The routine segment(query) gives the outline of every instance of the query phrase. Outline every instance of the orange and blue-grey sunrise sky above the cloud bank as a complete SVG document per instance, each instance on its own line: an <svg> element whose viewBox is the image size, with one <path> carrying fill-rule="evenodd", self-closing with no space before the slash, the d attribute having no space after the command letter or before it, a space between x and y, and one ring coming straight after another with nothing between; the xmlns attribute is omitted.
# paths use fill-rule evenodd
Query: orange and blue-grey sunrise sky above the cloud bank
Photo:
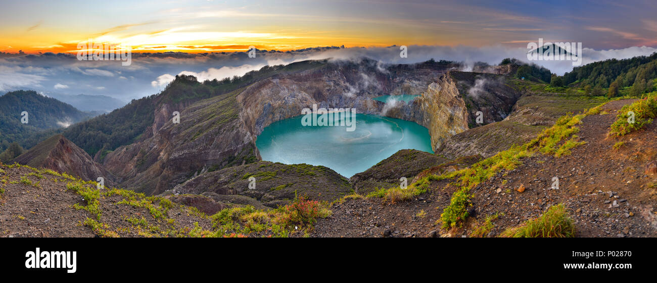
<svg viewBox="0 0 657 283"><path fill-rule="evenodd" d="M657 46L655 1L3 1L0 51L77 52L79 41L133 52L317 46ZM427 1L428 2L428 1Z"/></svg>

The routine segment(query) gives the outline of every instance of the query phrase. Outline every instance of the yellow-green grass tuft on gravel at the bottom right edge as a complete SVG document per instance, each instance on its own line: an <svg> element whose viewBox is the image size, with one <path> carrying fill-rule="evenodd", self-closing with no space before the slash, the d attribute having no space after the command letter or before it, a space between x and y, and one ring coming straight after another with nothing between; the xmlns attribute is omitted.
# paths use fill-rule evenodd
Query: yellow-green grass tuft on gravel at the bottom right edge
<svg viewBox="0 0 657 283"><path fill-rule="evenodd" d="M568 238L575 236L575 225L563 204L551 206L541 217L502 232L511 238Z"/></svg>

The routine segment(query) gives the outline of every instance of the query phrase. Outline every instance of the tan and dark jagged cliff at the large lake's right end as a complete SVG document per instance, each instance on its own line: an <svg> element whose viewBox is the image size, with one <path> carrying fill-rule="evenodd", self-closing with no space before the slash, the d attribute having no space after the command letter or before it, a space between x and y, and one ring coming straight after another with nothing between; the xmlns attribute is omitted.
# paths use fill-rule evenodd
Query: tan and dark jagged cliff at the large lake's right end
<svg viewBox="0 0 657 283"><path fill-rule="evenodd" d="M445 140L473 127L504 120L522 96L508 76L449 71L409 104L386 107L384 116L415 121L429 129L434 151ZM481 112L482 123L477 123Z"/></svg>

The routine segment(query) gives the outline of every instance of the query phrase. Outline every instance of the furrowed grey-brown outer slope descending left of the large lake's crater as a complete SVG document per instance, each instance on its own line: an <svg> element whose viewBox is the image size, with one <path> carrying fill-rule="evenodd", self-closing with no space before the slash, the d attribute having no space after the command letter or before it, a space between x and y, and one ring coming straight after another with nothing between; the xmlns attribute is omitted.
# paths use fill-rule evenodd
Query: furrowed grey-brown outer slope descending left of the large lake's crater
<svg viewBox="0 0 657 283"><path fill-rule="evenodd" d="M201 100L180 112L180 123L164 122L152 137L107 154L103 165L121 185L159 194L195 173L254 162L252 137L238 118L237 93Z"/></svg>

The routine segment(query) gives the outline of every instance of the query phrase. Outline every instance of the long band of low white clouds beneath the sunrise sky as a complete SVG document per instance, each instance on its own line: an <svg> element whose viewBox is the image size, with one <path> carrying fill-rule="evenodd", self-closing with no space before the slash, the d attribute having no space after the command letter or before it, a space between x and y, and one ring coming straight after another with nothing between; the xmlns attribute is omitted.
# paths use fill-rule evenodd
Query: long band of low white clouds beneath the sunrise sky
<svg viewBox="0 0 657 283"><path fill-rule="evenodd" d="M46 95L107 95L123 101L158 93L177 74L192 75L199 81L243 76L266 65L290 64L302 60L359 60L362 57L385 64L411 64L429 59L453 60L472 66L474 62L499 64L503 58L528 62L526 48L504 45L409 45L408 58L392 47L321 47L298 51L258 51L256 58L238 53L134 53L131 66L118 61L79 61L74 54L24 55L0 58L0 91L34 89ZM625 49L583 49L583 64L608 58L631 58L657 52L653 47ZM571 61L534 61L556 74L572 70ZM367 81L367 80L366 80Z"/></svg>

